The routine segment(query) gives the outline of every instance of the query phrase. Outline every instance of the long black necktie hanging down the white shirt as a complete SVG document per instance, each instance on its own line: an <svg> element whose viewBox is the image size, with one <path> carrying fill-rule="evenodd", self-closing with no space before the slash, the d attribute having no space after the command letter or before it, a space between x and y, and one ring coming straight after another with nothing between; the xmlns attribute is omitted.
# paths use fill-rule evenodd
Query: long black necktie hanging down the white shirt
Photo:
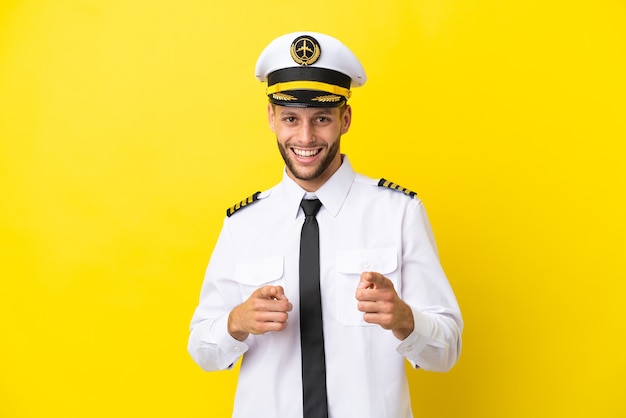
<svg viewBox="0 0 626 418"><path fill-rule="evenodd" d="M300 237L300 346L304 418L328 417L326 362L320 296L319 227L315 215L322 202L300 203L306 218Z"/></svg>

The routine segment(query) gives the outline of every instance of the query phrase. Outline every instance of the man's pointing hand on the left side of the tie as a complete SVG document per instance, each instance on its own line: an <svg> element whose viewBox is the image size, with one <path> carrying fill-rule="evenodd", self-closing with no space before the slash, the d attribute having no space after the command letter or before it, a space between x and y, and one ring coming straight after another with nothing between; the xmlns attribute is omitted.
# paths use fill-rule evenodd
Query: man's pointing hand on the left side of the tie
<svg viewBox="0 0 626 418"><path fill-rule="evenodd" d="M230 312L228 332L234 339L243 341L249 334L282 331L287 327L287 312L292 308L282 286L263 286Z"/></svg>

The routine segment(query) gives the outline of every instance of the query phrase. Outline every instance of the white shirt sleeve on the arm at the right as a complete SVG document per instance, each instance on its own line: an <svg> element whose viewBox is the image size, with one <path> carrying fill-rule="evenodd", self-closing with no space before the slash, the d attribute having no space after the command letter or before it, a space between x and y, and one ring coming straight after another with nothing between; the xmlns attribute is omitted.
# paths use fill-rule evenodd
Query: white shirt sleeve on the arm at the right
<svg viewBox="0 0 626 418"><path fill-rule="evenodd" d="M461 354L463 319L421 201L413 200L405 215L401 297L411 306L414 329L397 351L415 368L447 371Z"/></svg>

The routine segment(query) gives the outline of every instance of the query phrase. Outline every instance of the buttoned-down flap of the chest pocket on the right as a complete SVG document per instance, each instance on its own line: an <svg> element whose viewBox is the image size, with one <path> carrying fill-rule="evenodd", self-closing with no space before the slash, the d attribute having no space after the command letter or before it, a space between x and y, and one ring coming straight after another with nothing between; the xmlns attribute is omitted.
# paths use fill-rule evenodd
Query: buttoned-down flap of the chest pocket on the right
<svg viewBox="0 0 626 418"><path fill-rule="evenodd" d="M386 274L397 268L398 257L395 248L348 250L337 254L339 273L360 274L364 271L375 271Z"/></svg>

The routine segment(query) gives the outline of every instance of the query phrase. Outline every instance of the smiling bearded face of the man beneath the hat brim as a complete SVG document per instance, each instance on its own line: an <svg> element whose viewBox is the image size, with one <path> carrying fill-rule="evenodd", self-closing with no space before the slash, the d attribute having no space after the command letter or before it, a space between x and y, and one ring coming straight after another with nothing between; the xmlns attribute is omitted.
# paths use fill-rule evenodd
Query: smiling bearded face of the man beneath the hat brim
<svg viewBox="0 0 626 418"><path fill-rule="evenodd" d="M350 128L350 106L341 109L270 104L268 119L287 174L303 189L317 190L339 169L339 143Z"/></svg>

